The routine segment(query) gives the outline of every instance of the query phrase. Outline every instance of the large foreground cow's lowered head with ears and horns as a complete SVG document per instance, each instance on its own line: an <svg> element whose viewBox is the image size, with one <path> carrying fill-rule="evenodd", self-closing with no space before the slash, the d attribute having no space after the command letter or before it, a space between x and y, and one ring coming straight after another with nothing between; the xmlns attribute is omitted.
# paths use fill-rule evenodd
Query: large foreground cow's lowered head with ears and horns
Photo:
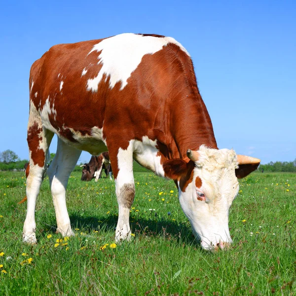
<svg viewBox="0 0 296 296"><path fill-rule="evenodd" d="M228 246L228 213L238 194L237 178L257 169L258 158L236 155L234 150L201 146L187 151L189 161L172 159L164 163L167 177L178 182L181 207L192 231L204 249Z"/></svg>

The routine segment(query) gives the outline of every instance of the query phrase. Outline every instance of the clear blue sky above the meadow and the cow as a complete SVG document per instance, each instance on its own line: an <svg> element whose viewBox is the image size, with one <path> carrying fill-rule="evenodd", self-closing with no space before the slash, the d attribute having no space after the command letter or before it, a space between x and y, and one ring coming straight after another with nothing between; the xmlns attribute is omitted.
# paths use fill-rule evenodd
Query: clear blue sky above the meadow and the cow
<svg viewBox="0 0 296 296"><path fill-rule="evenodd" d="M132 32L189 51L219 148L262 163L296 158L295 0L4 1L0 28L0 151L28 158L35 60L54 44Z"/></svg>

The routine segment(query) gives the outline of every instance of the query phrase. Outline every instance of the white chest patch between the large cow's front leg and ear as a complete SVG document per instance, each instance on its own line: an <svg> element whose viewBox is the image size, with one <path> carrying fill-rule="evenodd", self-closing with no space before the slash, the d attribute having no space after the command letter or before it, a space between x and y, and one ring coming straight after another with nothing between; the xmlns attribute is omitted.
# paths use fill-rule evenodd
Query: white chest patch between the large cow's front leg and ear
<svg viewBox="0 0 296 296"><path fill-rule="evenodd" d="M160 163L161 157L157 155L156 140L152 141L144 136L141 141L134 142L134 157L144 167L153 171L157 176L164 177L164 170Z"/></svg>

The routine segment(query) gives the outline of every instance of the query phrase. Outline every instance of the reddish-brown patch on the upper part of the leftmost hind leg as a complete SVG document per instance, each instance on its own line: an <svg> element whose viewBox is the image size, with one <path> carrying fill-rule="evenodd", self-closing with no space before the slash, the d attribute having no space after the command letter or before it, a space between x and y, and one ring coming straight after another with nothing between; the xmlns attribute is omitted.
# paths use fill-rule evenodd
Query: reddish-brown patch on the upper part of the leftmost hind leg
<svg viewBox="0 0 296 296"><path fill-rule="evenodd" d="M40 134L42 134L42 131L42 127L39 127L38 123L35 122L28 128L27 136L31 159L34 165L38 165L39 167L43 167L45 163L45 153L42 149L39 149L39 141L42 140Z"/></svg>

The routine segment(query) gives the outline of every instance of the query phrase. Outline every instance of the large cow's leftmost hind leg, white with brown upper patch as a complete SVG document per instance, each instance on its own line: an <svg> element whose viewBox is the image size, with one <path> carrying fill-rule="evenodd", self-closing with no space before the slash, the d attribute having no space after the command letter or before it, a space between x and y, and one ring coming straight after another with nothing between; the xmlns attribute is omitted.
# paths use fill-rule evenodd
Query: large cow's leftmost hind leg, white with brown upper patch
<svg viewBox="0 0 296 296"><path fill-rule="evenodd" d="M46 154L53 133L42 127L41 118L34 106L31 106L28 123L28 146L30 151L30 166L26 193L28 198L27 215L23 228L23 241L37 243L35 208L40 185L46 172Z"/></svg>

